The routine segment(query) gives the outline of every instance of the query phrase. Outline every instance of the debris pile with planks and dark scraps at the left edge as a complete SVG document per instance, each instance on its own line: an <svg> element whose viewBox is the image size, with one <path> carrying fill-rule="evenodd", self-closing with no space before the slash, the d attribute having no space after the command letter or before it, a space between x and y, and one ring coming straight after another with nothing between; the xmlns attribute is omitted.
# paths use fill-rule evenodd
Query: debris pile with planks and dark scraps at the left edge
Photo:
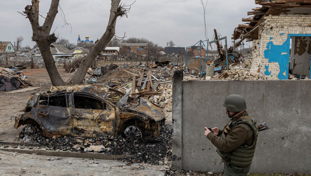
<svg viewBox="0 0 311 176"><path fill-rule="evenodd" d="M26 69L23 65L18 65L16 67L0 67L0 91L11 91L18 88L26 88L28 86L33 86L28 81L26 81L22 69Z"/></svg>

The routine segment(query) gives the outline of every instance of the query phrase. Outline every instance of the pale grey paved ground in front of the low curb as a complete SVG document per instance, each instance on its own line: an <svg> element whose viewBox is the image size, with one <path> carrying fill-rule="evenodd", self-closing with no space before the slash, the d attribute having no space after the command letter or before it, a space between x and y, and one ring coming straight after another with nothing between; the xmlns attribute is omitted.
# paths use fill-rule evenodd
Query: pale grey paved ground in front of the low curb
<svg viewBox="0 0 311 176"><path fill-rule="evenodd" d="M157 166L132 164L99 159L81 159L70 157L39 156L20 154L8 151L0 152L0 173L6 176L125 176L150 175L164 176L165 172L157 171ZM49 158L50 160L47 160ZM52 159L53 158L53 159ZM160 166L159 166L160 167Z"/></svg>

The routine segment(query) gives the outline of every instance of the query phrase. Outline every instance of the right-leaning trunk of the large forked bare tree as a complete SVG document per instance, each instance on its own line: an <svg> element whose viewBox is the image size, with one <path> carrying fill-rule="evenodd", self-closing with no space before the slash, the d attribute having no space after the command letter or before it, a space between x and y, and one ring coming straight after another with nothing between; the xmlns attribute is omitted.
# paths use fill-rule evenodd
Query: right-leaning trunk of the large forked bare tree
<svg viewBox="0 0 311 176"><path fill-rule="evenodd" d="M95 58L100 54L102 49L107 45L107 43L111 40L111 38L115 34L115 25L118 16L123 15L122 9L119 7L120 0L112 0L111 8L110 8L110 17L107 25L107 29L103 36L95 43L92 47L91 51L84 57L82 60L77 73L72 77L69 81L69 84L79 84L82 83L84 76L95 60Z"/></svg>

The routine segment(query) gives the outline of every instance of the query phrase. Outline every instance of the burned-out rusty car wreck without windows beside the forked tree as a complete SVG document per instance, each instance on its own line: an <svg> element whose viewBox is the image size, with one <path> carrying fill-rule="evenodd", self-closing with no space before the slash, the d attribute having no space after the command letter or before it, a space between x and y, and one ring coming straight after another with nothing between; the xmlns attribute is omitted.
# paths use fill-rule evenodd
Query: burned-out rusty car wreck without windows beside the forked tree
<svg viewBox="0 0 311 176"><path fill-rule="evenodd" d="M46 137L158 136L162 108L128 94L95 84L52 86L47 93L31 95L14 128L27 125L31 134L40 128Z"/></svg>

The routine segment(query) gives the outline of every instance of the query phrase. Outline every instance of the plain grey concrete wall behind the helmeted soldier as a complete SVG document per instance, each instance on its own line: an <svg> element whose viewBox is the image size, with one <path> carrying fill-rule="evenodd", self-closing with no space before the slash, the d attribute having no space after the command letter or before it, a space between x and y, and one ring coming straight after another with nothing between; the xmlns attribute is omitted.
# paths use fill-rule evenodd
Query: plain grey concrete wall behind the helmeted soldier
<svg viewBox="0 0 311 176"><path fill-rule="evenodd" d="M173 167L223 171L203 128L223 128L224 99L240 94L250 117L270 127L259 132L250 172L311 174L310 87L310 80L173 82Z"/></svg>

